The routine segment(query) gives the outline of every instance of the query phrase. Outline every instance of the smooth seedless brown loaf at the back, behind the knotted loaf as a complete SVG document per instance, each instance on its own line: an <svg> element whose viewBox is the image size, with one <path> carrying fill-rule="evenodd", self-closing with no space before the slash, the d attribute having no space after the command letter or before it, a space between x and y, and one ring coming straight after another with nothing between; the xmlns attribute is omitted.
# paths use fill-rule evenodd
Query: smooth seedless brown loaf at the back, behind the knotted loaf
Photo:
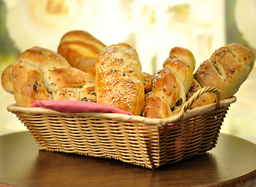
<svg viewBox="0 0 256 187"><path fill-rule="evenodd" d="M72 30L64 34L59 42L58 53L74 68L95 76L96 58L105 44L83 30Z"/></svg>

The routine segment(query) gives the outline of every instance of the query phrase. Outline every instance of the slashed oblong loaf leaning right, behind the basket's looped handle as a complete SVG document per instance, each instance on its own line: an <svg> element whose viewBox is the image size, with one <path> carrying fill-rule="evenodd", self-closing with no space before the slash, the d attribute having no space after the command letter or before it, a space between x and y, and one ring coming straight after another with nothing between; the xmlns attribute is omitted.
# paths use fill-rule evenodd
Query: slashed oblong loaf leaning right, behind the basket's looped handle
<svg viewBox="0 0 256 187"><path fill-rule="evenodd" d="M232 97L247 79L254 66L254 53L242 44L227 44L218 48L194 74L194 83L187 99L204 86L220 90L220 99ZM191 108L215 102L213 94L202 95Z"/></svg>

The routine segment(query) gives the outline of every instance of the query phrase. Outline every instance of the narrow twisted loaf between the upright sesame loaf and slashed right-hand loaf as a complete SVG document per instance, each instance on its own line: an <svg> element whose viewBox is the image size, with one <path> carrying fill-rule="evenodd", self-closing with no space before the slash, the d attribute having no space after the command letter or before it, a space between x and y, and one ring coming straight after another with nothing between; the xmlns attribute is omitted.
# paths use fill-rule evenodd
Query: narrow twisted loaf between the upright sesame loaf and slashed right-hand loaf
<svg viewBox="0 0 256 187"><path fill-rule="evenodd" d="M186 93L193 83L195 58L186 48L172 48L164 69L152 78L152 92L146 95L142 115L148 118L167 118L180 111Z"/></svg>

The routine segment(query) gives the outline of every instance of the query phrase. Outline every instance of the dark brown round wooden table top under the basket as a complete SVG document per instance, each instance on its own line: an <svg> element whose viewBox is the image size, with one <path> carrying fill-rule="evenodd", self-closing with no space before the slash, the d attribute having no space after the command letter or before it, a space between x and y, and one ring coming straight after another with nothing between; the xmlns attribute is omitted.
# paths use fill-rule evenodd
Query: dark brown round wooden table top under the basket
<svg viewBox="0 0 256 187"><path fill-rule="evenodd" d="M114 159L38 151L29 132L0 136L0 186L256 186L256 145L220 134L204 155L155 171Z"/></svg>

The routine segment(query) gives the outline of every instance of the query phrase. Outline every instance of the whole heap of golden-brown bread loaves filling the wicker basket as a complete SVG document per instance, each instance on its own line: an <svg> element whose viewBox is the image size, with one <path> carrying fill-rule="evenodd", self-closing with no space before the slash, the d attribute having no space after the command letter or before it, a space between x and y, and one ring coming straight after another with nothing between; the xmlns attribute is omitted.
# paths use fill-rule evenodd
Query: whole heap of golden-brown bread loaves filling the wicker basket
<svg viewBox="0 0 256 187"><path fill-rule="evenodd" d="M139 55L129 44L106 46L91 34L65 34L57 52L33 47L2 72L2 87L16 104L35 100L78 100L107 104L146 118L175 115L204 86L218 88L221 100L232 97L254 66L254 53L242 44L218 48L196 72L193 53L172 48L163 68L142 72ZM205 93L193 104L212 104Z"/></svg>

